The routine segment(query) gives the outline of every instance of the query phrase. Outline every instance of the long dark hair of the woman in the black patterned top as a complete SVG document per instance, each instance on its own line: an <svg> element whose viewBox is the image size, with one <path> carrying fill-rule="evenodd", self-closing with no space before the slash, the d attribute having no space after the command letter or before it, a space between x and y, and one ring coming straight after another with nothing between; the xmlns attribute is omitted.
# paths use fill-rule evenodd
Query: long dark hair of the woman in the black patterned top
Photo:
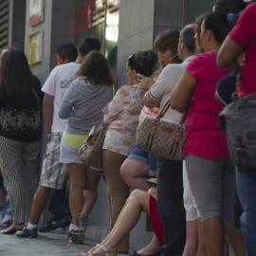
<svg viewBox="0 0 256 256"><path fill-rule="evenodd" d="M0 88L8 96L23 96L31 91L32 72L22 50L10 48L2 58Z"/></svg>

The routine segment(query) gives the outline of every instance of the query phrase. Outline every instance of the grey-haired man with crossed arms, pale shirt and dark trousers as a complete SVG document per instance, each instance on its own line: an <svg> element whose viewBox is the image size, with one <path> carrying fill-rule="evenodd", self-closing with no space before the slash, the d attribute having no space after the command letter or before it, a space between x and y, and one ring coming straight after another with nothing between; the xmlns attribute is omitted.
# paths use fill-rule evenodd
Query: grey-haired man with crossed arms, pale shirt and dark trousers
<svg viewBox="0 0 256 256"><path fill-rule="evenodd" d="M159 105L161 109L165 102L170 100L176 82L181 77L186 65L192 60L195 46L194 30L193 24L181 30L177 52L183 63L168 64L162 70L158 80L145 96L147 107ZM142 86L144 85L142 78ZM180 114L172 108L164 116L164 119L174 121L179 121L180 118ZM165 233L161 255L181 256L186 242L182 161L158 156L157 173L157 207Z"/></svg>

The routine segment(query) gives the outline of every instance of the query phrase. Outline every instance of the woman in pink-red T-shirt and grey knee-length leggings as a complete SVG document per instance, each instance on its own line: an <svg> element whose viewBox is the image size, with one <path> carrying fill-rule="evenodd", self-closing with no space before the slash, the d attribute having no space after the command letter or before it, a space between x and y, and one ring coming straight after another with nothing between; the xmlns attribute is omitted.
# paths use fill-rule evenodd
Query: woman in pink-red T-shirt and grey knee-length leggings
<svg viewBox="0 0 256 256"><path fill-rule="evenodd" d="M179 112L191 103L184 157L209 256L224 255L225 234L235 255L245 255L242 234L232 223L234 170L218 119L224 105L214 99L216 83L229 75L229 70L216 66L216 56L230 28L225 12L215 11L204 19L200 42L205 52L187 65L171 96Z"/></svg>

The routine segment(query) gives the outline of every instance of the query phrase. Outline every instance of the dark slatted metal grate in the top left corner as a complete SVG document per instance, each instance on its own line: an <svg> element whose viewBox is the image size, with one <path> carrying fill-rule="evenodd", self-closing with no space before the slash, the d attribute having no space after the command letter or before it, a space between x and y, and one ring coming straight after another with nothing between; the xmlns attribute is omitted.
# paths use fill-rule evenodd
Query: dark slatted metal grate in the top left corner
<svg viewBox="0 0 256 256"><path fill-rule="evenodd" d="M0 50L9 46L9 0L0 0Z"/></svg>

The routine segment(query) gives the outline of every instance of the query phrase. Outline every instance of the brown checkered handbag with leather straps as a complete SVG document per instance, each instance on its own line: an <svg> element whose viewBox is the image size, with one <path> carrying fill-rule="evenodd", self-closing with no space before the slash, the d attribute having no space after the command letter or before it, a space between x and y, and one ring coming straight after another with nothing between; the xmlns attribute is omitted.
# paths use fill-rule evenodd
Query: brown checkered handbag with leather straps
<svg viewBox="0 0 256 256"><path fill-rule="evenodd" d="M183 160L186 111L179 122L162 119L170 105L171 101L167 101L156 118L147 115L139 122L136 146L164 158Z"/></svg>

